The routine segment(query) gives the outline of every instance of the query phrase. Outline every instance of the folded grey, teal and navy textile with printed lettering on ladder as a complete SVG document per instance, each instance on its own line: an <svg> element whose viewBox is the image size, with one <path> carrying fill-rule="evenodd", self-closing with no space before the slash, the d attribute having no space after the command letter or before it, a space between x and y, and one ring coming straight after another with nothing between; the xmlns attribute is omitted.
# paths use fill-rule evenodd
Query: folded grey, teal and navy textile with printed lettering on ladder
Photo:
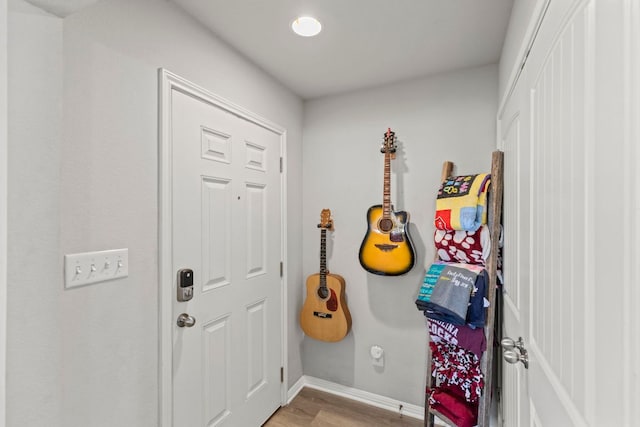
<svg viewBox="0 0 640 427"><path fill-rule="evenodd" d="M470 264L431 264L416 306L430 319L473 328L485 323L486 270Z"/></svg>

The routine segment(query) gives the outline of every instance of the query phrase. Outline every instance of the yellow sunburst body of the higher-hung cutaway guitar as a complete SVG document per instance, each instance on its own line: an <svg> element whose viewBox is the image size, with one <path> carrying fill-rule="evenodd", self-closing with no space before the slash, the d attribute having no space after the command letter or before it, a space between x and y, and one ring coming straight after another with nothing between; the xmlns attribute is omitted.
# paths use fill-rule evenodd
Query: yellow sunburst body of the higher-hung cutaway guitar
<svg viewBox="0 0 640 427"><path fill-rule="evenodd" d="M367 234L360 245L360 264L368 272L381 276L405 274L415 264L415 251L409 236L409 214L393 212L391 207L391 214L386 219L391 223L386 225L383 220L382 205L371 206L367 211Z"/></svg>

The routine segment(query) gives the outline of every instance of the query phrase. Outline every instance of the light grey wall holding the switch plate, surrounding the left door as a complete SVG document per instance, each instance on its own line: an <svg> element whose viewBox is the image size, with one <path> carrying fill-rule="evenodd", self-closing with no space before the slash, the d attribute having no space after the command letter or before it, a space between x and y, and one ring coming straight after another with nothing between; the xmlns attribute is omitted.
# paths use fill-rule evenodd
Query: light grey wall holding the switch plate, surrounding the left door
<svg viewBox="0 0 640 427"><path fill-rule="evenodd" d="M158 424L158 77L287 129L289 383L302 374L302 102L165 1L10 13L8 424ZM64 291L65 253L129 248L129 277Z"/></svg>

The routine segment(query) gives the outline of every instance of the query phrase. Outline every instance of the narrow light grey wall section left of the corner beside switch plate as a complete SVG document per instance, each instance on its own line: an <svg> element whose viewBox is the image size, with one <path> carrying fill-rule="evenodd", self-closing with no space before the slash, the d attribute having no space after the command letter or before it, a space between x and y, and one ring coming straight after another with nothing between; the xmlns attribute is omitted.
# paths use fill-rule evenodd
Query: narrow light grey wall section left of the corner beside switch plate
<svg viewBox="0 0 640 427"><path fill-rule="evenodd" d="M35 426L61 419L62 21L18 6L8 27L7 424Z"/></svg>

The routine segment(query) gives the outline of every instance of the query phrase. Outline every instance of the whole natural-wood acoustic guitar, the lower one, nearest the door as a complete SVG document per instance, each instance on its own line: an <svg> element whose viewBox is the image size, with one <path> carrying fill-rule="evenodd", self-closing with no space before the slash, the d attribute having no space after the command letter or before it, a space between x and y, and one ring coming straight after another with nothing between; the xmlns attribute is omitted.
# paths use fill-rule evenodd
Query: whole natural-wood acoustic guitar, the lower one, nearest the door
<svg viewBox="0 0 640 427"><path fill-rule="evenodd" d="M343 339L351 329L351 314L345 302L345 282L327 270L327 230L333 230L331 211L320 214L320 273L307 278L307 298L300 312L304 333L320 341Z"/></svg>

